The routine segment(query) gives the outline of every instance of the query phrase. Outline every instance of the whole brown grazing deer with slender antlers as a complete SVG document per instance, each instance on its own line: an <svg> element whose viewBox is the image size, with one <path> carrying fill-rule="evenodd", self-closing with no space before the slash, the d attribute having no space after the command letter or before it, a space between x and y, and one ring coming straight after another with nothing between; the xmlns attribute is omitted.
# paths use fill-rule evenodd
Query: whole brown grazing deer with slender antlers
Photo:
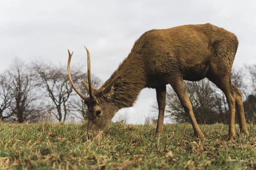
<svg viewBox="0 0 256 170"><path fill-rule="evenodd" d="M81 94L72 81L70 61L73 52L68 50L67 71L70 84L88 108L88 139L105 130L121 108L132 107L143 88L156 90L158 119L155 134L162 134L168 84L188 113L195 136L204 138L183 81L200 81L204 78L223 91L227 99L230 114L228 139L235 138L236 110L240 132L248 134L242 94L232 84L230 77L238 44L235 34L210 23L152 29L135 41L131 52L99 89L92 87L90 53L84 46L87 51L88 84L84 81L82 84L88 97Z"/></svg>

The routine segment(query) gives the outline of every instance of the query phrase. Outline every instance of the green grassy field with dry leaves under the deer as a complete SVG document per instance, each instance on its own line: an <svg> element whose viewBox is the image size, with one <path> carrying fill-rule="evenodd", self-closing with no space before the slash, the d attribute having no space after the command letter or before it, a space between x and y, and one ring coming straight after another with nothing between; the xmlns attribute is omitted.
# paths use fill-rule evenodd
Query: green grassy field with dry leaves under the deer
<svg viewBox="0 0 256 170"><path fill-rule="evenodd" d="M1 123L0 169L256 169L255 125L234 141L222 124L201 125L205 139L190 124L165 125L159 138L155 127L112 123L87 141L86 124Z"/></svg>

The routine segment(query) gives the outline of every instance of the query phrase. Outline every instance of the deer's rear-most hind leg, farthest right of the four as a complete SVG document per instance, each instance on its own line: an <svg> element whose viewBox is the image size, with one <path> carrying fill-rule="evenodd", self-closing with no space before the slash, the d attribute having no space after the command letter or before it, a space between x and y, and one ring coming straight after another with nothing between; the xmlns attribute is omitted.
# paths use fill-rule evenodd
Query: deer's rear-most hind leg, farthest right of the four
<svg viewBox="0 0 256 170"><path fill-rule="evenodd" d="M236 96L236 111L238 113L240 132L242 132L244 134L248 134L246 120L244 117L244 105L243 105L243 100L242 100L242 93L233 84L231 84L231 88L233 89L235 96Z"/></svg>

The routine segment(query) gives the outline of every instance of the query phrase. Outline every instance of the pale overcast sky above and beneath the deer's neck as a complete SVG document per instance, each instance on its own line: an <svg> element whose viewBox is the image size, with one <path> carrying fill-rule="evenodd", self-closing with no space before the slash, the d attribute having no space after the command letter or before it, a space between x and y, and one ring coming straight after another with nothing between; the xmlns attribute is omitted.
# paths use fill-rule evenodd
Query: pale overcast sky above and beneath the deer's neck
<svg viewBox="0 0 256 170"><path fill-rule="evenodd" d="M234 67L256 63L255 0L1 0L0 73L15 57L66 65L91 56L91 72L105 82L141 34L151 29L211 23L239 39ZM71 68L72 69L72 68ZM156 116L154 89L143 89L132 108L121 109L129 124ZM165 121L166 122L166 121Z"/></svg>

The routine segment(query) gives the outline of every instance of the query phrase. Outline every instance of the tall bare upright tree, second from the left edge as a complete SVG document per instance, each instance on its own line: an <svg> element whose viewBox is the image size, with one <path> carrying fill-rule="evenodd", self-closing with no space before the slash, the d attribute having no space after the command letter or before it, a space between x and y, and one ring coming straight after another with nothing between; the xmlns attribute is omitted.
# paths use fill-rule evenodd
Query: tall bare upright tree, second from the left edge
<svg viewBox="0 0 256 170"><path fill-rule="evenodd" d="M41 114L41 107L37 103L37 89L30 74L29 67L21 60L15 59L8 71L10 78L10 93L13 97L10 105L12 115L10 120L23 123L34 122Z"/></svg>

